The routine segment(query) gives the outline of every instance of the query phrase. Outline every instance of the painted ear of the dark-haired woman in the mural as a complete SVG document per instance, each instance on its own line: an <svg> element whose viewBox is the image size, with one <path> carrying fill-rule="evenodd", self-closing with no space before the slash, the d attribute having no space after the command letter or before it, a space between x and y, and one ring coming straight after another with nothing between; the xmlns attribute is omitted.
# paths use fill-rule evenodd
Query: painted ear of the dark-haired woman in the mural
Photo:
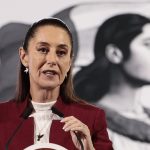
<svg viewBox="0 0 150 150"><path fill-rule="evenodd" d="M122 51L114 44L108 44L106 46L105 55L113 64L120 64L123 61Z"/></svg>

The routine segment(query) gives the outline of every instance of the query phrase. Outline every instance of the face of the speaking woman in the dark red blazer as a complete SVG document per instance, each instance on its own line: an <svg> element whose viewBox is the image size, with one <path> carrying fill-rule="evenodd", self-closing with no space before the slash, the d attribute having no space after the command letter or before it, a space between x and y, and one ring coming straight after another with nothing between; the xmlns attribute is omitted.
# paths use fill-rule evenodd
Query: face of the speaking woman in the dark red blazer
<svg viewBox="0 0 150 150"><path fill-rule="evenodd" d="M71 42L68 33L52 25L38 28L29 41L26 60L30 86L42 89L59 87L70 69Z"/></svg>

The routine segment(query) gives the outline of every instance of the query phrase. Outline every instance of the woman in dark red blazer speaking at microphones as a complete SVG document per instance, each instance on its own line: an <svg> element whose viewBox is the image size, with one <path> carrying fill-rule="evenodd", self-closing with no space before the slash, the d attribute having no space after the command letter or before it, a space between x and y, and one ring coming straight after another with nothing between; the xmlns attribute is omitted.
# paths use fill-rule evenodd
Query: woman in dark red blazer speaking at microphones
<svg viewBox="0 0 150 150"><path fill-rule="evenodd" d="M19 55L16 97L0 104L0 149L51 142L69 150L112 150L103 110L74 95L66 24L56 18L34 23Z"/></svg>

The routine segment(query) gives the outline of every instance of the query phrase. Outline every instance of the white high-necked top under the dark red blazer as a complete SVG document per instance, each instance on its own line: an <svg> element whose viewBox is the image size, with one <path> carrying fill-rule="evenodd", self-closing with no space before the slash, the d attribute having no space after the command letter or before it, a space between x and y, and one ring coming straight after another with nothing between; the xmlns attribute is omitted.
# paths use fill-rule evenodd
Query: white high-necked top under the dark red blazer
<svg viewBox="0 0 150 150"><path fill-rule="evenodd" d="M38 103L31 101L35 113L30 115L34 117L34 144L37 143L49 143L50 127L52 120L60 120L61 118L52 113L51 107L56 101L47 103ZM39 135L39 139L38 139Z"/></svg>

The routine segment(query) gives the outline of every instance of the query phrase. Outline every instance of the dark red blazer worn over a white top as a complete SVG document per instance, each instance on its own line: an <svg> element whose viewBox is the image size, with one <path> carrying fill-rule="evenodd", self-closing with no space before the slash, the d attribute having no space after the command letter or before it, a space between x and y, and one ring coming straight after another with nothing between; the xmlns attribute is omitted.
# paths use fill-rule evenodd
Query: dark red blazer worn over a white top
<svg viewBox="0 0 150 150"><path fill-rule="evenodd" d="M25 100L17 104L9 101L0 104L0 150L5 150L6 143L15 128L23 120L21 114L26 109L29 101ZM61 98L55 103L55 107L64 116L75 116L85 123L91 132L92 141L96 150L112 150L112 143L106 131L104 111L91 105L73 102L66 104ZM68 150L76 150L70 133L65 132L60 120L53 120L50 129L49 142L64 146ZM9 150L23 150L34 143L34 120L32 117L24 120L23 124L9 144Z"/></svg>

